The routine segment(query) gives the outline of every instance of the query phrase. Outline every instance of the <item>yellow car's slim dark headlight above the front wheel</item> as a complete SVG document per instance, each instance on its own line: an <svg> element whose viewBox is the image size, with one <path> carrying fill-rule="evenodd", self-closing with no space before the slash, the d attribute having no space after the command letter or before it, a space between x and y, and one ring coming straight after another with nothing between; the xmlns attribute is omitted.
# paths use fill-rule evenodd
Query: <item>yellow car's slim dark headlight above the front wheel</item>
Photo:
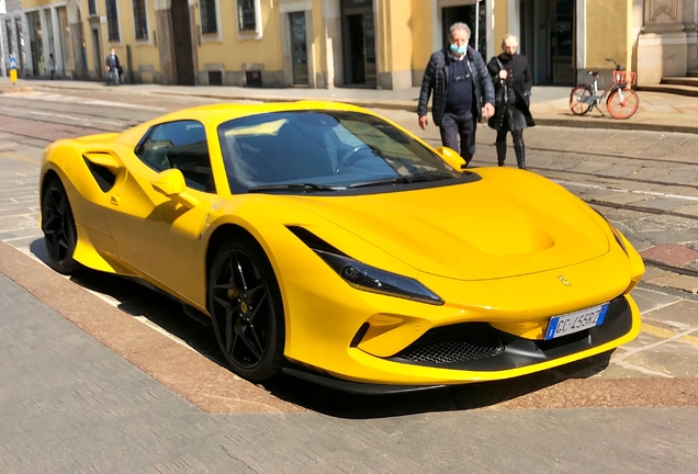
<svg viewBox="0 0 698 474"><path fill-rule="evenodd" d="M443 300L415 279L379 270L349 257L313 249L348 284L371 293L397 296L432 305Z"/></svg>

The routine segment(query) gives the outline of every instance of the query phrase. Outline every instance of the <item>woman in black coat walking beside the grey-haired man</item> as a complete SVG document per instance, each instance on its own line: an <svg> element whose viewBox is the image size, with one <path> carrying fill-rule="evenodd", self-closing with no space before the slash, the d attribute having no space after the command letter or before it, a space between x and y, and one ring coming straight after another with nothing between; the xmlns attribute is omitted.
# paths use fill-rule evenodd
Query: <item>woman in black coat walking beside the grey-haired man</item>
<svg viewBox="0 0 698 474"><path fill-rule="evenodd" d="M497 131L497 165L504 166L507 132L510 132L516 161L519 168L527 169L524 128L536 125L529 110L533 80L528 60L516 54L518 46L518 38L507 35L502 41L502 54L493 57L487 65L495 83L495 114L489 119L489 126Z"/></svg>

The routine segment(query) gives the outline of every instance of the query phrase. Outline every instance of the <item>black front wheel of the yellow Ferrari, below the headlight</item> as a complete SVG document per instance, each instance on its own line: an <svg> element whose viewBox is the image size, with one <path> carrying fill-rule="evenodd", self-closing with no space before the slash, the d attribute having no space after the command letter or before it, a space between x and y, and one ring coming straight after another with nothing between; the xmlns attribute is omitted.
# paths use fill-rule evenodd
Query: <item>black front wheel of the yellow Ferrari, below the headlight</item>
<svg viewBox="0 0 698 474"><path fill-rule="evenodd" d="M233 371L262 382L275 376L285 325L281 292L263 250L251 237L234 237L216 252L209 276L209 311Z"/></svg>

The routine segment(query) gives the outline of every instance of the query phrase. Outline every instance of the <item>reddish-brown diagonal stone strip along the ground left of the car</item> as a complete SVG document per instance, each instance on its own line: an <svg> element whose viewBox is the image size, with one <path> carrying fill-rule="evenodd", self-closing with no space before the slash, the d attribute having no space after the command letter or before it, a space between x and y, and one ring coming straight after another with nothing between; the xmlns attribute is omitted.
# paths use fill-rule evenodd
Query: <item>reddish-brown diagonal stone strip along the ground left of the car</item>
<svg viewBox="0 0 698 474"><path fill-rule="evenodd" d="M299 410L106 305L98 296L3 242L0 242L0 272L12 275L38 300L53 302L52 307L69 321L201 409L222 413ZM99 313L92 311L95 306L100 307ZM202 391L202 387L206 390Z"/></svg>

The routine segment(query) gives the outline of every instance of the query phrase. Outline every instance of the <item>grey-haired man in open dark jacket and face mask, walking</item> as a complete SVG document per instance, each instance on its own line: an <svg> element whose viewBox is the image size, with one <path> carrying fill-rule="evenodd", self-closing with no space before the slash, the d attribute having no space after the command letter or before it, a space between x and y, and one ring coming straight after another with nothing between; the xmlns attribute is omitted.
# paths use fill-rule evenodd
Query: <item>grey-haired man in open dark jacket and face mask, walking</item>
<svg viewBox="0 0 698 474"><path fill-rule="evenodd" d="M454 23L449 30L449 47L431 55L419 92L419 126L429 124L427 103L434 92L431 116L441 132L443 146L458 150L468 166L475 155L477 122L494 110L494 87L484 59L468 45L470 27Z"/></svg>

